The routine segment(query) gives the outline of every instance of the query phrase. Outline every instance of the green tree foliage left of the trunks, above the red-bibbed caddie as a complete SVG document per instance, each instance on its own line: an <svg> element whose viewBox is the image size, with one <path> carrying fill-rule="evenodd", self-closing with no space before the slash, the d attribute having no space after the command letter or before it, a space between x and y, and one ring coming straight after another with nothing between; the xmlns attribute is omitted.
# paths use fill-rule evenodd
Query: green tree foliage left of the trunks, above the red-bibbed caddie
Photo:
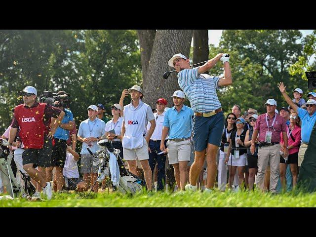
<svg viewBox="0 0 316 237"><path fill-rule="evenodd" d="M19 91L33 85L71 94L77 124L90 104L107 116L123 88L141 83L140 52L132 30L0 31L0 132L9 125Z"/></svg>

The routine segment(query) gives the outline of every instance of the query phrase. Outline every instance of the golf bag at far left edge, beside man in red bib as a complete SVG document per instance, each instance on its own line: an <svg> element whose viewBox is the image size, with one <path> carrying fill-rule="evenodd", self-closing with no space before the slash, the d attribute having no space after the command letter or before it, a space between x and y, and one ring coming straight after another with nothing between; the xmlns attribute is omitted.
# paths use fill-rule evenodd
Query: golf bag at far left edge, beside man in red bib
<svg viewBox="0 0 316 237"><path fill-rule="evenodd" d="M31 183L31 178L17 169L13 152L10 152L7 145L9 144L6 140L0 139L0 172L3 186L13 198L32 196L36 188Z"/></svg>

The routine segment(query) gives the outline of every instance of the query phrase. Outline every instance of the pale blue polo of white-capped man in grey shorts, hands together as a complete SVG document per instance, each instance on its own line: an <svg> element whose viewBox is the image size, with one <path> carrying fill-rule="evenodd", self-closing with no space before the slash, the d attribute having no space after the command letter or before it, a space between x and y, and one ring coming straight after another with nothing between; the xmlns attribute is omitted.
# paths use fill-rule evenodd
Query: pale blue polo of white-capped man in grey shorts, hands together
<svg viewBox="0 0 316 237"><path fill-rule="evenodd" d="M85 137L99 137L105 134L105 122L99 118L95 118L91 121L89 118L82 121L79 125L78 136ZM92 142L89 149L92 153L96 153L100 148L97 142ZM88 144L82 142L82 149L80 154L89 154L87 150Z"/></svg>

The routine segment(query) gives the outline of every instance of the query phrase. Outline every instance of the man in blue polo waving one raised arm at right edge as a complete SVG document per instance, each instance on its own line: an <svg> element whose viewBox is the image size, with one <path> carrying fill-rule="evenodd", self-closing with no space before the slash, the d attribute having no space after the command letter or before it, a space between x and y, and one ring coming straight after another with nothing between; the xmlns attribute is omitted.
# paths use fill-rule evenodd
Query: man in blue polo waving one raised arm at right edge
<svg viewBox="0 0 316 237"><path fill-rule="evenodd" d="M302 144L300 146L300 150L298 152L298 167L301 166L304 155L306 152L306 149L308 147L308 143L310 142L310 137L312 133L313 126L316 121L316 101L313 99L310 99L306 102L307 110L299 108L297 105L294 104L294 102L290 99L290 97L286 94L285 88L283 82L280 82L277 87L279 88L280 92L282 93L284 99L286 102L293 108L293 110L298 114L298 116L301 118L302 122Z"/></svg>

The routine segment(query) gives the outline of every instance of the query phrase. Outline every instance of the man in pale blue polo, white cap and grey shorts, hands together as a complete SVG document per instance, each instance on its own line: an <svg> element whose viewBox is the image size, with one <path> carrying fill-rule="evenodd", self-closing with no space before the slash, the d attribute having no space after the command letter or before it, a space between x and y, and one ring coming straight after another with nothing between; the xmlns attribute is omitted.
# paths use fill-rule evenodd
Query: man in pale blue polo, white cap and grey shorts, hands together
<svg viewBox="0 0 316 237"><path fill-rule="evenodd" d="M93 154L96 154L97 150L99 150L97 142L101 140L102 135L105 135L105 122L97 118L97 106L90 105L87 111L89 118L80 123L77 134L78 141L82 142L80 172L83 173L83 181L86 189L91 187L98 177L98 166L93 165L93 157L89 154L87 148ZM98 187L99 182L93 187L95 193L98 192Z"/></svg>

